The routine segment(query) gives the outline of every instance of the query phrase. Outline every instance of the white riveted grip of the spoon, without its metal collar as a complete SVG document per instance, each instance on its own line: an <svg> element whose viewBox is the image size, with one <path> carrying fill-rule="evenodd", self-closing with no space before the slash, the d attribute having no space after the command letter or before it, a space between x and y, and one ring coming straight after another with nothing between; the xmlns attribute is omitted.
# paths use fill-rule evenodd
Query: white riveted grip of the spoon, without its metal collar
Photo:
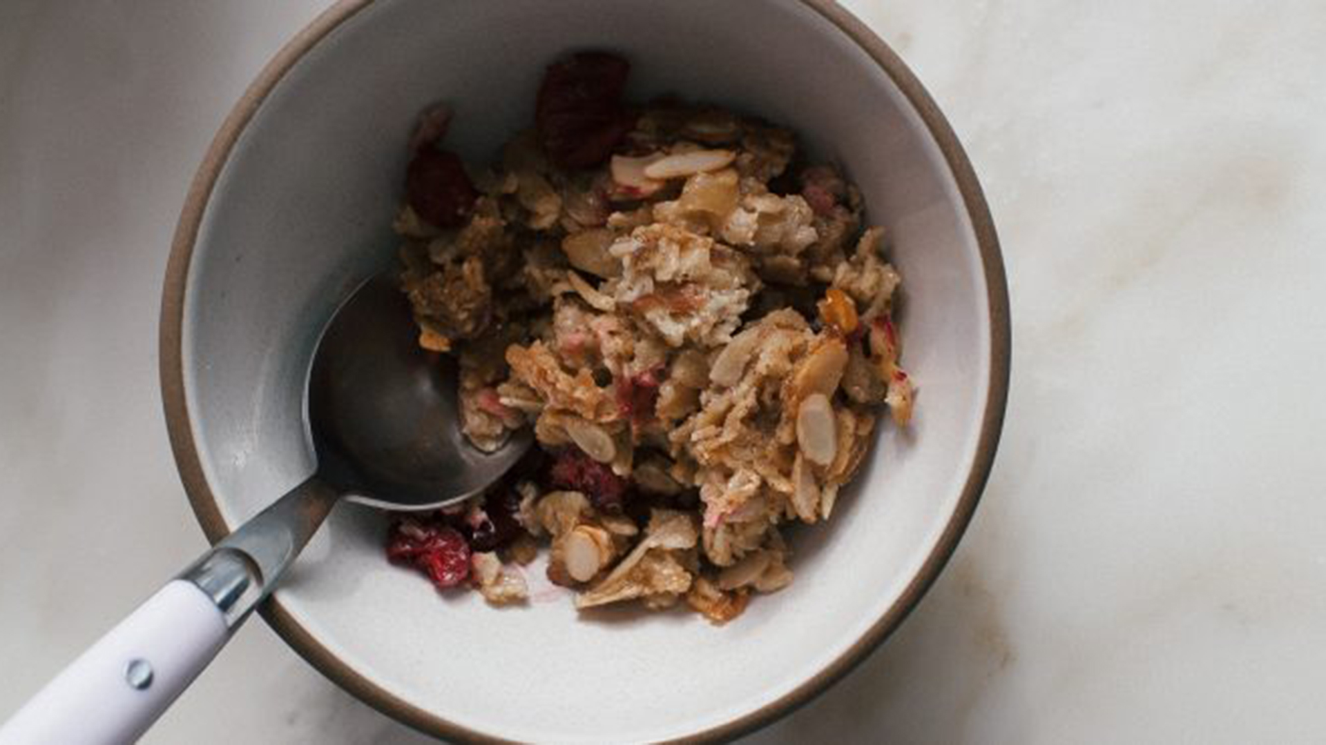
<svg viewBox="0 0 1326 745"><path fill-rule="evenodd" d="M0 728L0 745L133 742L229 635L196 585L171 581Z"/></svg>

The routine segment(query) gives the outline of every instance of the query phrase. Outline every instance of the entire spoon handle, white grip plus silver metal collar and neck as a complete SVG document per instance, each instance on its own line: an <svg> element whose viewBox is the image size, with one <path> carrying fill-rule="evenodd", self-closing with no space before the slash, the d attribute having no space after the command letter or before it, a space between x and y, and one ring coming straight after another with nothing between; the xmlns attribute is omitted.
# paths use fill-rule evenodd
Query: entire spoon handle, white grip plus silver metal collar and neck
<svg viewBox="0 0 1326 745"><path fill-rule="evenodd" d="M272 593L334 502L309 479L223 538L19 709L0 745L138 740Z"/></svg>

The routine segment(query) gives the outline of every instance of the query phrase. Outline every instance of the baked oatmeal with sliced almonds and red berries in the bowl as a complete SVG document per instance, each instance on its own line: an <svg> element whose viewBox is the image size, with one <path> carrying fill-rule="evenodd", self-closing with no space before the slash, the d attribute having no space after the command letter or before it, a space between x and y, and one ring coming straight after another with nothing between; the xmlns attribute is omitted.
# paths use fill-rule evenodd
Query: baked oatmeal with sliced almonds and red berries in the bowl
<svg viewBox="0 0 1326 745"><path fill-rule="evenodd" d="M792 582L784 529L827 520L884 411L914 387L900 278L857 187L793 134L712 106L623 99L629 65L548 68L500 163L411 139L402 288L419 343L455 358L463 431L537 447L469 504L402 517L389 555L495 604L517 569L590 608L684 602L715 622Z"/></svg>

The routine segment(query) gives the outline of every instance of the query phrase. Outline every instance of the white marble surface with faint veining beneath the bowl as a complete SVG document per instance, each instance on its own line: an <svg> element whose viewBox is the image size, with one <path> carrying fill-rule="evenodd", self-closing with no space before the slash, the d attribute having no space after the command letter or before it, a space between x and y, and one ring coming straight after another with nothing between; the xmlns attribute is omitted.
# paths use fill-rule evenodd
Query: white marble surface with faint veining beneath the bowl
<svg viewBox="0 0 1326 745"><path fill-rule="evenodd" d="M212 131L320 5L0 3L0 716L204 545L159 281ZM751 741L1326 741L1326 5L847 5L985 184L1012 398L920 608ZM253 623L145 741L424 740Z"/></svg>

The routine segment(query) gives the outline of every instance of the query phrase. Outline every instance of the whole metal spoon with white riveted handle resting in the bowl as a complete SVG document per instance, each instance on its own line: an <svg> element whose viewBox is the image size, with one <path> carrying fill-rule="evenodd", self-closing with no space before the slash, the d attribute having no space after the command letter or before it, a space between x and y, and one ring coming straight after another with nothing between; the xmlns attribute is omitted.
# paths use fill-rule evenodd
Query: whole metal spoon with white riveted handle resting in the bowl
<svg viewBox="0 0 1326 745"><path fill-rule="evenodd" d="M370 278L324 329L308 382L317 472L204 553L3 728L0 744L133 742L276 587L341 498L424 510L472 497L529 448L484 453L457 426L455 365L416 343L410 304Z"/></svg>

